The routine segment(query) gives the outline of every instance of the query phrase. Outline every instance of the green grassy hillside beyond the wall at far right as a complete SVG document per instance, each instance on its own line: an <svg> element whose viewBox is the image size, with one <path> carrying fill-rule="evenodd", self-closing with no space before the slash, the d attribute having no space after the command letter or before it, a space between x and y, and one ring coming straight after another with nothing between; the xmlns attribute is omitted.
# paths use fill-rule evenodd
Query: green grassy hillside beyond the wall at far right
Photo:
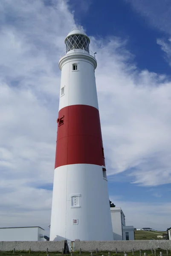
<svg viewBox="0 0 171 256"><path fill-rule="evenodd" d="M162 235L167 232L166 231L144 231L144 230L135 230L135 240L163 240L162 238L157 238L157 236Z"/></svg>

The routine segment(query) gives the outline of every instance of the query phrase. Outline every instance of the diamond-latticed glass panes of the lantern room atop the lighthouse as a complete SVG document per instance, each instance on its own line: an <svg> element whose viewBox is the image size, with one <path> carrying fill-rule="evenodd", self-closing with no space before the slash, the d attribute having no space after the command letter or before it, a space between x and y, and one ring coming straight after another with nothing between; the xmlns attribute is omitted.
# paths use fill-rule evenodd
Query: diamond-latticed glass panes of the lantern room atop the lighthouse
<svg viewBox="0 0 171 256"><path fill-rule="evenodd" d="M71 35L66 40L66 50L84 49L89 52L89 41L85 35Z"/></svg>

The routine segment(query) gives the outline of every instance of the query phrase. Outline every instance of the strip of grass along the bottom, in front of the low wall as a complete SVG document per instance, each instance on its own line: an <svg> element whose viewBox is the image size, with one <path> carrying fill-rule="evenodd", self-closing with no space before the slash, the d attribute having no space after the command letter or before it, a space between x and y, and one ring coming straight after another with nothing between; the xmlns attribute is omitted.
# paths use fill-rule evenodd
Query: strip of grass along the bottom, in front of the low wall
<svg viewBox="0 0 171 256"><path fill-rule="evenodd" d="M166 250L161 250L161 249L157 249L156 250L156 256L159 256L160 251L162 251L162 256L167 256ZM125 252L127 253L128 256L132 256L132 250ZM142 250L142 256L144 256L144 253L147 253L147 256L154 256L154 251L153 254L151 253L151 250ZM49 252L48 253L49 256L62 256L62 253L58 253L58 252ZM13 254L13 251L7 251L7 252L2 252L0 251L0 256L29 256L29 251L15 251L15 253ZM31 256L47 256L46 252L32 252L30 253ZM66 254L66 256L70 256L70 254ZM73 256L80 256L79 252L73 252L72 253ZM81 252L81 256L90 256L91 253L90 252ZM108 256L108 252L106 251L99 251L97 254L96 252L93 252L93 256ZM139 251L134 251L134 256L139 256L140 253ZM65 255L64 255L65 256ZM124 256L123 252L118 251L118 253L116 254L115 252L110 252L110 256ZM171 251L168 251L168 256L171 256Z"/></svg>

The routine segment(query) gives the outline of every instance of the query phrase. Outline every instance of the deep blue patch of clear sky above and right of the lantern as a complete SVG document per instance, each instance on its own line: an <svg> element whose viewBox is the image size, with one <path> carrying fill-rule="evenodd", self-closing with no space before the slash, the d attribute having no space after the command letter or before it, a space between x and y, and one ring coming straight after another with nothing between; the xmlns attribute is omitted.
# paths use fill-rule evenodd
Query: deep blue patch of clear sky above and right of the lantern
<svg viewBox="0 0 171 256"><path fill-rule="evenodd" d="M118 36L128 40L127 49L134 55L139 69L171 75L161 47L156 44L156 38L165 37L166 33L150 27L148 20L135 12L129 1L110 0L108 4L102 0L87 1L87 11L84 12L83 9L80 11L76 0L71 0L70 8L77 23L86 27L89 35Z"/></svg>

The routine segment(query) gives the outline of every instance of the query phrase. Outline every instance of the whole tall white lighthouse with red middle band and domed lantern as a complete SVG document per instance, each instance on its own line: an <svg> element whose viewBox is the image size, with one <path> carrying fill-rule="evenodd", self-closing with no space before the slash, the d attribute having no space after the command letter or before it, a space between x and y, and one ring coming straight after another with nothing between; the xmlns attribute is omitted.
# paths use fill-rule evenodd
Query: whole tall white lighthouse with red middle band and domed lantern
<svg viewBox="0 0 171 256"><path fill-rule="evenodd" d="M97 61L89 44L81 26L74 27L59 60L61 88L50 241L113 240L96 91Z"/></svg>

